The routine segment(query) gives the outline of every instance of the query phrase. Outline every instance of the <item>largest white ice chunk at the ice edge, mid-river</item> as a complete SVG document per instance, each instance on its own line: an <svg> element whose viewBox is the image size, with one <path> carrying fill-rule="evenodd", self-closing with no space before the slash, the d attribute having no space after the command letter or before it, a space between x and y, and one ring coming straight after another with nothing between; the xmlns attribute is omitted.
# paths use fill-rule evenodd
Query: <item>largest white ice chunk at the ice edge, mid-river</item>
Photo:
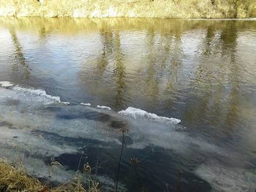
<svg viewBox="0 0 256 192"><path fill-rule="evenodd" d="M158 116L154 113L148 113L142 109L129 107L123 111L118 112L121 115L131 116L132 118L147 118L151 120L156 120L159 122L170 122L172 124L180 124L180 120L177 118L168 118L166 116Z"/></svg>

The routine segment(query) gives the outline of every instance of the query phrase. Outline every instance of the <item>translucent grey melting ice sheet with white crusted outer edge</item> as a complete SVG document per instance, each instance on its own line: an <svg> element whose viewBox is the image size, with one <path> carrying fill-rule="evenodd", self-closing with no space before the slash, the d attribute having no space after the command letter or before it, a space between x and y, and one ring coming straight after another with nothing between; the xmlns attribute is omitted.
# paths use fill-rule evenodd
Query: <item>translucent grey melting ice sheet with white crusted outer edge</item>
<svg viewBox="0 0 256 192"><path fill-rule="evenodd" d="M91 108L89 103L66 106L60 97L48 95L44 90L23 88L9 82L0 82L0 85L0 157L14 161L18 151L29 154L24 164L36 177L45 177L47 164L44 159L61 154L77 154L84 147L60 138L95 140L102 143L97 147L113 147L122 144L118 129L124 126L129 129L129 148L140 149L154 145L189 156L193 147L198 154L213 153L227 158L233 156L200 137L192 137L176 118L157 116L131 107L116 113L105 106ZM44 134L50 139L45 139ZM227 189L227 186L214 178L226 171L218 162L208 162L199 166L195 174L207 180L218 191ZM244 177L236 182L237 175L243 171L228 170L230 177L225 178L232 180L232 190L242 191L255 186ZM56 171L54 179L67 182L72 180L74 174L64 168ZM99 179L105 184L114 183L103 175Z"/></svg>

